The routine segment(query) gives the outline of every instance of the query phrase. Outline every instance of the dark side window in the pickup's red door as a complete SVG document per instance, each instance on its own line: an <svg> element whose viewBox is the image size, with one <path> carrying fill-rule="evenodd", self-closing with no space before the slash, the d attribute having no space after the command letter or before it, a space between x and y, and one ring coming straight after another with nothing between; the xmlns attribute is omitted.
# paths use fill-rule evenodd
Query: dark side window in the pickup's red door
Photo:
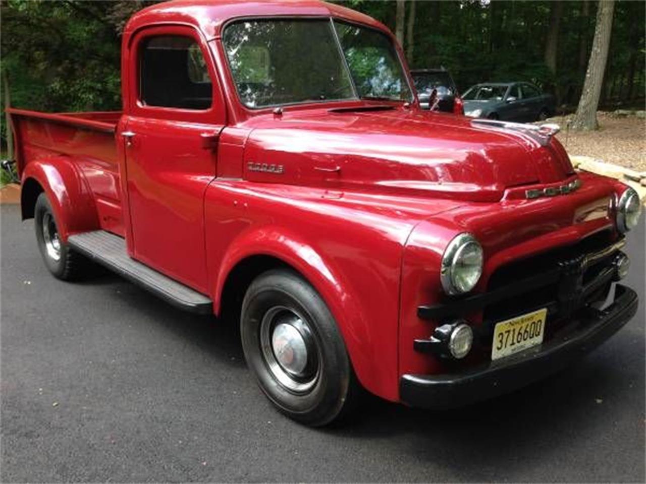
<svg viewBox="0 0 646 484"><path fill-rule="evenodd" d="M139 86L146 106L205 110L213 103L206 61L191 37L144 39L139 47Z"/></svg>

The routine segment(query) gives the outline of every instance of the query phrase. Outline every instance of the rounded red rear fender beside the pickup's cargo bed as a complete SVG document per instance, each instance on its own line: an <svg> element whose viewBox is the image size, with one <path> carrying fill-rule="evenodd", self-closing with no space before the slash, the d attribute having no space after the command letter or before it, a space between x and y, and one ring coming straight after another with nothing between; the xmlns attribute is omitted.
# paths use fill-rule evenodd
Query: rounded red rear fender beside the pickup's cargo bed
<svg viewBox="0 0 646 484"><path fill-rule="evenodd" d="M30 161L23 170L22 187L30 180L36 181L47 194L63 241L70 234L99 228L92 192L70 159L52 156ZM24 190L21 203L26 203Z"/></svg>

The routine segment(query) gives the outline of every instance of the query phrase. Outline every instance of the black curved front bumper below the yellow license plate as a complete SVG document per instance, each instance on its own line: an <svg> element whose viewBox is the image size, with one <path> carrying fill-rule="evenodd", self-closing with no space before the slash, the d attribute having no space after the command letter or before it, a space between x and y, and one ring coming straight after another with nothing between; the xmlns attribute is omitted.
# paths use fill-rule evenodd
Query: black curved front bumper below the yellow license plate
<svg viewBox="0 0 646 484"><path fill-rule="evenodd" d="M524 387L598 347L634 316L637 306L636 292L617 284L610 306L588 309L576 331L458 374L403 375L400 399L413 407L459 407Z"/></svg>

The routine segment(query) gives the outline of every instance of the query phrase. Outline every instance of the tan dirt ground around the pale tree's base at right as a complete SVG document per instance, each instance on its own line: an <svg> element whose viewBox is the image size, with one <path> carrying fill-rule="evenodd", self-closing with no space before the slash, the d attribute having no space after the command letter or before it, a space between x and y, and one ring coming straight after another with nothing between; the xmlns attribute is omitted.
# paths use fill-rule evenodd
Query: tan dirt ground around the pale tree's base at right
<svg viewBox="0 0 646 484"><path fill-rule="evenodd" d="M561 125L557 138L568 154L591 156L638 172L646 171L646 119L614 117L599 112L599 130L584 132L568 130L568 119L554 117L549 120Z"/></svg>

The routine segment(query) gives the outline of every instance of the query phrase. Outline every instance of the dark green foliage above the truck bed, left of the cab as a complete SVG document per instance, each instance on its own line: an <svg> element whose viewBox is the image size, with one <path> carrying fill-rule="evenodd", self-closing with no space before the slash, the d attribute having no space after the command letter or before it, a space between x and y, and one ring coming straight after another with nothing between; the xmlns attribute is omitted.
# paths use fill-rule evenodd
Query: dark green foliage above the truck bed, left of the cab
<svg viewBox="0 0 646 484"><path fill-rule="evenodd" d="M120 108L120 43L110 2L9 0L2 5L2 67L14 106Z"/></svg>

